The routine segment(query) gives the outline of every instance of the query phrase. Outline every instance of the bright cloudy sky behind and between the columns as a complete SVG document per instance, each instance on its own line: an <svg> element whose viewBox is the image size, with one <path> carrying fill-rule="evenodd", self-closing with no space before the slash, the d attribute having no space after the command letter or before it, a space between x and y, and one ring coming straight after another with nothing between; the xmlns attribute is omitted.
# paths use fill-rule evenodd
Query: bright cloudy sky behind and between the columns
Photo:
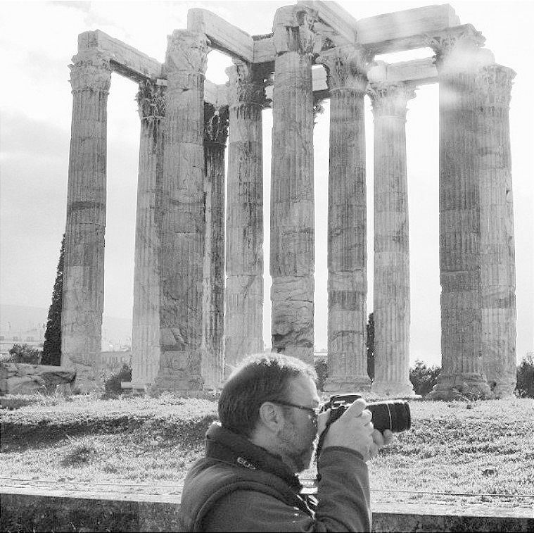
<svg viewBox="0 0 534 533"><path fill-rule="evenodd" d="M272 31L276 8L291 2L2 2L0 4L0 299L48 307L65 229L70 140L68 64L77 35L103 30L163 61L167 35L186 27L187 10L214 11L251 35ZM421 1L340 1L355 18L433 4ZM497 63L516 73L511 99L511 153L516 232L517 354L533 341L533 69L534 3L457 1L461 23L486 37ZM389 56L405 61L428 49ZM208 79L224 83L229 58L208 57ZM129 318L133 301L134 224L139 147L136 85L114 74L108 99L108 211L104 313ZM372 311L372 115L367 101L368 311ZM407 165L412 298L411 360L440 363L438 269L438 88L421 87L409 102ZM269 204L270 111L264 112L265 200ZM326 347L326 201L329 109L315 135L316 294L315 341ZM269 223L265 220L265 242ZM268 265L268 246L265 265ZM265 342L270 346L269 277L266 270Z"/></svg>

